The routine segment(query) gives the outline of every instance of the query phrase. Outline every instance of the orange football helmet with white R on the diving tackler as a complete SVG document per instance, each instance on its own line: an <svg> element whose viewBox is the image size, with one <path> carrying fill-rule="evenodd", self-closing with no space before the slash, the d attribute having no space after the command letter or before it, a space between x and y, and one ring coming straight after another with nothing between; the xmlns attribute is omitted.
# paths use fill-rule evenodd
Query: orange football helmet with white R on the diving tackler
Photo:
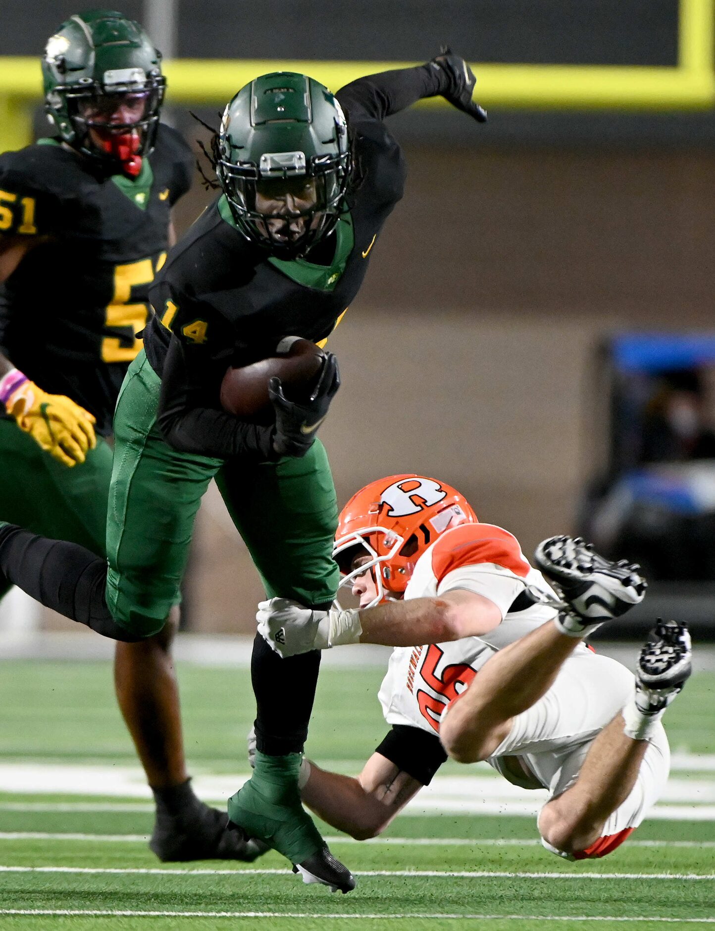
<svg viewBox="0 0 715 931"><path fill-rule="evenodd" d="M377 585L369 607L404 592L415 564L437 537L460 523L478 523L467 499L443 481L391 475L353 494L338 519L333 549L343 578L339 587L368 569ZM359 556L368 559L355 569Z"/></svg>

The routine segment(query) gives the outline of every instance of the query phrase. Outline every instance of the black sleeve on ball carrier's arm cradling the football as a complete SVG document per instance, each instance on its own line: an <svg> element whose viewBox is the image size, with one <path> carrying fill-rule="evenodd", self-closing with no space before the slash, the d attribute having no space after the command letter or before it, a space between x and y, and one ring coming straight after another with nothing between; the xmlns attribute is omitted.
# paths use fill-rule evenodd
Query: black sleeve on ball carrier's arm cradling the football
<svg viewBox="0 0 715 931"><path fill-rule="evenodd" d="M254 461L278 459L272 447L274 427L246 424L230 413L207 405L206 385L187 364L190 352L192 347L184 346L172 335L162 373L157 416L169 446L179 452L195 452L217 459L231 456ZM218 394L218 385L215 388Z"/></svg>

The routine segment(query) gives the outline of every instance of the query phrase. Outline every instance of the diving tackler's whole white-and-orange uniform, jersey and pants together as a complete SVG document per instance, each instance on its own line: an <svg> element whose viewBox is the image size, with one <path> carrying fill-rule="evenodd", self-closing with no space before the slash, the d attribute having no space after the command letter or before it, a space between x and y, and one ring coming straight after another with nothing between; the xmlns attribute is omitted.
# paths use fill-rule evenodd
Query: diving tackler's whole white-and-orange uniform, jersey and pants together
<svg viewBox="0 0 715 931"><path fill-rule="evenodd" d="M515 537L500 527L460 524L438 537L417 560L405 599L434 598L466 588L494 601L502 621L483 637L393 650L379 691L387 722L439 733L444 708L479 675L484 663L555 616L554 608L519 599L527 586L555 597L543 575L524 559ZM633 690L634 677L627 668L579 643L545 695L513 718L510 734L486 762L523 789L547 789L549 799L561 795L578 778L596 735L624 708ZM594 852L589 848L584 853L602 856L602 850L596 852L600 843L615 841L617 846L641 824L661 795L668 773L668 739L659 725L649 738L628 798L608 817Z"/></svg>

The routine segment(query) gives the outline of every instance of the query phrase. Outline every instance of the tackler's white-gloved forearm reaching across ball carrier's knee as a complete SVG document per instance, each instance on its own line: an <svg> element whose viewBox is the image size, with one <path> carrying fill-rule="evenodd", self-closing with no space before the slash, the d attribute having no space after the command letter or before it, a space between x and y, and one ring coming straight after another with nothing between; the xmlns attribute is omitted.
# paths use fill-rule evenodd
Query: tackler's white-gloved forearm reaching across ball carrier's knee
<svg viewBox="0 0 715 931"><path fill-rule="evenodd" d="M329 650L348 643L419 646L480 637L497 627L494 601L466 589L440 598L389 601L374 608L314 611L285 598L258 604L258 633L281 656Z"/></svg>

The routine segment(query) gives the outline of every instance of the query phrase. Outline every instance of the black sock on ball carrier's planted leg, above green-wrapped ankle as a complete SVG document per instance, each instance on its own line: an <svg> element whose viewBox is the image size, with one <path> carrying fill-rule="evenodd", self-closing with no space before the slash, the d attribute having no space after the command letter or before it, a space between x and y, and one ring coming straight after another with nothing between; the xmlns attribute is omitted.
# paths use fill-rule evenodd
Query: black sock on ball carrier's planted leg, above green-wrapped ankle
<svg viewBox="0 0 715 931"><path fill-rule="evenodd" d="M253 642L256 749L271 756L300 753L308 736L320 650L282 659L260 634Z"/></svg>

